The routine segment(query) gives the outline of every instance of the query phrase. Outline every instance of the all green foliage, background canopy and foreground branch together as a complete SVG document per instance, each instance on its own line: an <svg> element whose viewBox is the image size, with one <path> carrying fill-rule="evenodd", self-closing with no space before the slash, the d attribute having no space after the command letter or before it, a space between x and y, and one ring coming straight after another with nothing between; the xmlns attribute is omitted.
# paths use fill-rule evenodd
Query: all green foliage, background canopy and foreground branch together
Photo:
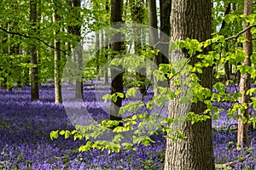
<svg viewBox="0 0 256 170"><path fill-rule="evenodd" d="M240 1L232 0L225 3L236 3ZM108 1L109 3L109 1ZM58 1L55 3L44 2L38 4L38 22L35 28L37 33L31 35L31 21L29 20L29 1L10 1L4 0L0 4L0 9L3 11L0 14L0 27L13 34L8 34L3 29L0 31L0 37L2 46L0 47L0 84L8 88L12 88L15 85L26 85L29 82L29 69L31 66L37 66L39 68L39 82L48 82L54 78L54 47L52 47L53 40L57 39L61 42L61 63L60 67L64 66L67 61L67 54L70 53L67 43L71 47L75 47L82 37L74 36L69 30L70 27L82 26L81 32L87 36L87 31L100 30L104 26L109 25L110 10L106 10L106 1L93 0L90 3L84 4L83 8L73 8L67 1ZM125 21L130 23L133 20L131 7L141 8L142 14L146 14L147 6L143 3L128 4L125 7ZM17 10L18 9L18 10ZM57 14L61 16L61 20L52 23L52 11L57 9ZM98 125L89 126L77 126L76 130L72 132L68 130L53 131L50 133L50 139L57 139L59 136L64 136L65 139L73 138L85 139L86 144L79 148L79 151L86 151L90 149L97 150L108 150L108 151L119 151L123 148L126 150L136 150L136 144L149 145L154 141L150 139L149 134L156 132L149 132L145 134L143 128L149 126L155 126L164 133L168 133L166 138L170 138L175 142L178 139L185 139L183 134L176 130L171 129L172 124L177 125L189 121L192 123L206 121L211 116L213 120L218 119L218 113L221 111L217 106L212 105L212 102L232 102L233 105L229 108L228 115L234 116L235 118L241 118L243 122L252 122L255 126L255 118L252 116L249 120L245 119L244 116L237 116L236 113L240 109L241 112L252 106L256 109L256 98L253 97L255 94L255 88L251 88L247 91L247 94L251 96L251 102L248 105L238 104L238 99L241 94L238 92L232 92L227 94L227 86L235 84L236 74L240 71L241 74L248 73L251 78L255 80L256 71L256 54L250 56L252 66L240 65L240 63L248 56L244 54L241 48L241 43L246 42L242 34L238 33L242 30L242 24L247 21L253 26L256 23L256 14L251 14L246 18L242 15L242 5L237 5L236 9L233 8L230 14L224 15L225 7L223 1L214 1L214 8L212 10L213 30L215 33L212 34L212 38L205 42L199 42L195 39L186 38L184 41L178 41L170 43L170 48L177 50L177 47L186 51L186 59L181 59L176 63L167 65L160 65L159 70L153 72L154 77L157 81L170 81L172 80L176 89L158 87L154 88L154 92L158 92L159 95L155 95L152 100L144 102L143 100L137 102L130 102L123 105L120 108L119 114L123 115L125 112L131 113L130 117L122 120L124 127L116 127L119 125L117 121L102 121ZM148 23L147 17L143 17L142 22ZM222 30L220 27L222 23L226 24ZM53 34L56 28L60 29L57 34ZM256 27L251 29L253 37L255 39ZM106 33L106 32L105 32ZM17 35L18 34L18 35ZM232 36L232 37L231 37ZM147 40L145 40L146 42ZM29 64L29 48L30 45L34 44L38 51L38 65ZM253 42L255 47L255 42ZM91 47L90 52L95 52L96 47ZM207 54L204 50L209 48L211 51ZM93 79L99 74L100 69L108 61L106 54L112 54L109 50L99 50L98 54L92 53L84 54L84 68L83 77L84 79ZM152 50L151 48L140 49L140 56L132 55L131 57L116 58L110 63L111 67L117 68L122 65L126 72L124 73L124 86L128 88L126 94L106 94L103 96L105 101L113 100L117 101L118 98L129 99L130 97L137 96L137 90L143 86L148 87L150 81L143 77L138 79L136 72L141 72L143 68L147 68L148 65L144 65L144 59L152 59L152 56L157 55L159 51ZM136 59L134 59L136 57ZM195 59L194 65L189 65L191 59ZM88 59L88 60L86 60ZM74 59L71 65L75 63ZM225 76L224 65L229 64L232 66L234 75L230 80L223 80ZM187 65L183 67L183 65ZM213 67L214 69L214 83L213 88L201 87L201 82L198 75L201 75L205 68ZM75 68L75 67L73 67ZM98 70L97 70L98 69ZM73 69L70 72L70 77L73 80L78 78L81 71L79 69ZM189 74L188 74L189 73ZM187 79L181 81L181 77L189 75ZM180 97L183 92L183 86L189 88L186 91L186 95ZM180 104L189 105L191 103L198 104L199 102L206 105L206 111L203 113L192 113L186 117L159 117L161 108L168 105L168 102L172 99L179 98ZM150 115L148 111L140 110L145 107L147 110L158 111L159 115ZM160 120L160 121L159 121ZM2 123L3 127L8 127L8 124ZM115 127L111 129L111 127ZM121 143L123 136L122 133L131 132L138 129L132 135L133 143ZM154 128L153 128L154 129ZM96 141L92 142L90 139L97 139L101 137L104 132L112 130L116 134L112 141Z"/></svg>

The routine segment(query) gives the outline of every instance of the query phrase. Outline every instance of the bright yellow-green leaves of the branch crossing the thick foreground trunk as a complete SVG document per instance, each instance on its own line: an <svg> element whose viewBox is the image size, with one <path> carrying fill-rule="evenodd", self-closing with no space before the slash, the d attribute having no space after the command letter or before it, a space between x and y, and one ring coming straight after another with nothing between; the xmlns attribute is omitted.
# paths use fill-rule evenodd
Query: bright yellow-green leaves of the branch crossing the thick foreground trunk
<svg viewBox="0 0 256 170"><path fill-rule="evenodd" d="M224 17L227 24L232 24L233 22L241 22L241 16L237 16L234 14L230 14ZM236 34L236 31L235 31ZM245 39L241 36L235 37L236 43L244 42ZM228 111L229 116L233 116L235 119L241 118L243 122L252 122L255 126L256 121L252 117L247 120L244 116L238 116L236 113L238 110L244 111L247 109L247 105L240 105L237 103L238 99L241 97L241 94L238 92L227 93L227 85L230 83L234 83L235 81L227 80L224 82L221 80L221 77L224 76L224 72L221 71L221 65L229 62L232 65L236 65L236 71L241 71L241 73L248 72L252 77L255 77L255 71L253 66L244 66L237 65L239 62L243 61L247 57L243 53L242 48L231 46L230 50L224 51L224 47L226 44L229 44L229 41L233 41L233 39L227 40L223 35L215 34L211 39L208 39L206 42L198 42L194 39L187 38L184 41L177 42L177 46L179 48L183 48L188 52L187 59L180 60L177 63L160 65L159 70L153 72L154 77L157 81L166 81L168 79L172 79L174 85L177 87L174 91L170 88L157 87L154 88L154 91L159 92L159 95L155 95L152 100L148 102L137 101L137 102L129 102L126 105L123 105L119 110L119 115L123 115L125 112L132 113L132 116L124 118L121 122L123 123L123 127L116 127L119 125L118 121L102 121L98 125L90 125L85 127L76 127L76 130L72 133L67 131L61 131L61 135L64 135L65 138L73 136L74 139L85 139L86 144L79 148L79 151L87 151L90 149L97 150L108 150L117 151L125 149L125 150L136 150L136 144L144 144L149 145L154 143L152 139L150 139L150 135L157 133L156 130L151 130L148 133L145 132L145 127L155 127L151 129L160 129L162 132L167 133L166 138L172 139L173 142L178 142L179 140L186 139L183 136L183 133L180 130L172 129L170 126L178 125L179 123L184 122L203 122L208 119L218 120L218 114L222 110L215 105L212 105L212 102L233 102L232 107ZM212 48L208 54L203 54L204 48ZM152 56L154 51L143 51L143 56L147 57ZM196 56L197 62L194 65L189 65L189 61L191 56ZM254 56L254 54L253 54ZM113 59L111 61L111 65L119 66L123 65L124 69L134 69L135 71L139 70L139 68L143 67L143 57L133 59L132 57ZM253 59L252 59L253 60ZM255 59L254 59L255 60ZM254 62L253 60L253 62ZM185 66L184 65L188 65ZM215 72L215 82L213 84L214 90L209 88L201 87L201 82L198 78L198 75L202 73L202 71L207 67L214 67ZM187 74L190 72L190 74ZM125 80L134 76L135 74L127 71L124 74ZM189 75L184 82L180 81L180 77L183 75ZM116 101L118 97L128 99L129 97L135 97L137 95L136 82L137 80L129 80L130 82L125 82L125 85L131 85L131 88L126 90L126 94L106 94L103 96L105 101L113 100ZM180 104L189 105L191 103L204 103L206 105L206 110L202 113L189 112L185 117L160 117L160 114L150 115L147 111L141 111L140 108L145 107L148 110L159 110L160 108L166 106L168 101L177 98L180 94L183 94L183 89L178 88L181 85L186 85L189 90L186 92L186 96L179 99ZM251 88L247 91L247 94L253 95L255 94L255 89ZM252 102L250 105L253 108L256 108L256 99L252 97ZM160 121L159 121L160 120ZM111 127L114 127L111 129ZM112 131L115 136L112 141L104 141L97 140L104 132ZM122 143L122 139L124 138L122 133L131 132L131 138L133 139L132 143ZM56 133L52 134L52 139L57 137ZM90 139L96 139L95 142L92 142Z"/></svg>

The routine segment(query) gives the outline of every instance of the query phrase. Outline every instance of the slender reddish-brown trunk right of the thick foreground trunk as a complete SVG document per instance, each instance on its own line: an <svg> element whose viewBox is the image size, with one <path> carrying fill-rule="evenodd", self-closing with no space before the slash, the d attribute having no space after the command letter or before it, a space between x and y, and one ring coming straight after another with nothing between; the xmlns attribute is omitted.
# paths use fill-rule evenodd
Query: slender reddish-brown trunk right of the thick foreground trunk
<svg viewBox="0 0 256 170"><path fill-rule="evenodd" d="M253 2L252 0L244 0L244 8L243 15L247 17L247 15L253 13ZM249 23L245 23L243 28L246 29L249 26ZM246 42L243 42L243 51L247 54L247 58L241 63L241 65L251 66L251 55L253 54L253 40L252 33L250 30L247 30L244 33L244 37L247 38ZM239 99L239 103L241 105L247 105L247 108L244 111L239 110L238 114L241 116L245 116L247 119L249 118L248 104L250 103L250 96L247 95L247 90L250 89L251 86L251 77L248 72L241 74L240 82L239 82L239 92L241 93L241 98ZM248 123L242 122L241 118L238 119L238 129L237 129L237 145L238 147L248 147L249 145L249 137L248 137Z"/></svg>

